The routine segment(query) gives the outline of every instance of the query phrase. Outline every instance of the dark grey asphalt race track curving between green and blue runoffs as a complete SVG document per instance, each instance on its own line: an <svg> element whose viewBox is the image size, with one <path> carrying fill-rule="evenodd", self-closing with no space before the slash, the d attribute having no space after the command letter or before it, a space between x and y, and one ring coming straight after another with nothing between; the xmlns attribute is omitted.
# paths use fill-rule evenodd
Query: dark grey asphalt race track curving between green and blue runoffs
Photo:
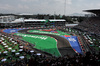
<svg viewBox="0 0 100 66"><path fill-rule="evenodd" d="M30 33L30 32L28 32L29 30L37 30L37 29L24 29L24 30L20 30L18 32L24 33L24 34L45 35L45 36L53 37L57 40L57 47L58 47L59 52L61 53L61 56L65 56L65 55L74 56L76 54L75 51L70 46L67 39L57 36L57 35L52 35L52 34Z"/></svg>

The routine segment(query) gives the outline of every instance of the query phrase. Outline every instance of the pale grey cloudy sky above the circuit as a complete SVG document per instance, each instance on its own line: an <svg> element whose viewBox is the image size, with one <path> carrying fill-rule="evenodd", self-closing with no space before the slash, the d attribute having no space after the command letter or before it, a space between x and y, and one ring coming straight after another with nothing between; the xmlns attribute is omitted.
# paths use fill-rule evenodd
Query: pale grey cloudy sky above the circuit
<svg viewBox="0 0 100 66"><path fill-rule="evenodd" d="M0 0L0 13L64 14L65 0ZM65 14L99 9L100 0L66 0Z"/></svg>

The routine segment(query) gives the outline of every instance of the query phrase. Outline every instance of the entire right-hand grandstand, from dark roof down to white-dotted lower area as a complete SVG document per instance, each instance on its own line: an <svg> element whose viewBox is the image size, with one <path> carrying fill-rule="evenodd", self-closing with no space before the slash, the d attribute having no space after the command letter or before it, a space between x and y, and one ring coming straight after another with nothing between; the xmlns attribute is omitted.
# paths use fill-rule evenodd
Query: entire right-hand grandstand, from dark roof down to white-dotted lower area
<svg viewBox="0 0 100 66"><path fill-rule="evenodd" d="M95 16L87 17L82 23L75 26L73 29L83 33L92 52L100 52L100 9L84 10L85 12L93 13ZM98 50L97 50L98 49Z"/></svg>

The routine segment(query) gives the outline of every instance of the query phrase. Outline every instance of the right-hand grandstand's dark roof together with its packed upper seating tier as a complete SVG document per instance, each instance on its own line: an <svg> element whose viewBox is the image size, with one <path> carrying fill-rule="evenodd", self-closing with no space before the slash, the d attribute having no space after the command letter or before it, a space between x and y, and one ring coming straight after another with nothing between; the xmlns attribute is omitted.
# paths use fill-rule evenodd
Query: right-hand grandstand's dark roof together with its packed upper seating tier
<svg viewBox="0 0 100 66"><path fill-rule="evenodd" d="M88 17L86 20L84 20L82 23L80 23L78 26L75 26L74 28L100 36L100 10L85 11L92 12L96 14L96 16Z"/></svg>

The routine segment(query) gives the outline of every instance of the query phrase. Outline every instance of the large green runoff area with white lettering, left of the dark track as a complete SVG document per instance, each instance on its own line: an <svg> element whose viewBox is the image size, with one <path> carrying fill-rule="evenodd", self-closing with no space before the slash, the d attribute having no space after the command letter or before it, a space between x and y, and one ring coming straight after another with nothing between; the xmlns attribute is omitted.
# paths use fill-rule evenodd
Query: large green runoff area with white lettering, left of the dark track
<svg viewBox="0 0 100 66"><path fill-rule="evenodd" d="M22 40L34 44L34 48L48 52L57 57L61 56L57 49L57 41L52 37L22 33L15 33L15 35L22 36Z"/></svg>

